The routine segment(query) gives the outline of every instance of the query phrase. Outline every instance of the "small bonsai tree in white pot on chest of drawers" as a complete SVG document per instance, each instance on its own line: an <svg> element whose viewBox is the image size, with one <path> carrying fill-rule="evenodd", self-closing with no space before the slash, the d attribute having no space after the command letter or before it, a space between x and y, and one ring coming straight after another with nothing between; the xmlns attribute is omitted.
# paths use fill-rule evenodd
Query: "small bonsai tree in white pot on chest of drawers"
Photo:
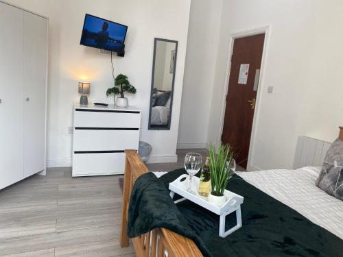
<svg viewBox="0 0 343 257"><path fill-rule="evenodd" d="M115 95L120 95L120 97L117 97L117 102L115 99L115 105L119 107L126 107L128 106L128 99L124 97L124 92L135 94L137 89L130 84L128 81L128 76L119 74L115 78L115 86L113 86L113 88L108 88L106 90L106 95L109 96L113 94L114 99Z"/></svg>

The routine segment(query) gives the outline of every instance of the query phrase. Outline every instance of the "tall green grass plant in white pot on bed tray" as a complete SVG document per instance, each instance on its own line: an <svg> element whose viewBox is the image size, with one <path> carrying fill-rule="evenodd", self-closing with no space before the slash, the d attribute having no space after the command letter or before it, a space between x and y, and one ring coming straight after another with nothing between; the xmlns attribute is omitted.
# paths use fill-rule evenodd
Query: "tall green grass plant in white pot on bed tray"
<svg viewBox="0 0 343 257"><path fill-rule="evenodd" d="M210 156L210 175L211 175L211 193L208 201L217 206L222 206L226 197L224 190L228 185L228 180L235 173L235 151L229 145L220 143L217 148L213 144L209 147Z"/></svg>

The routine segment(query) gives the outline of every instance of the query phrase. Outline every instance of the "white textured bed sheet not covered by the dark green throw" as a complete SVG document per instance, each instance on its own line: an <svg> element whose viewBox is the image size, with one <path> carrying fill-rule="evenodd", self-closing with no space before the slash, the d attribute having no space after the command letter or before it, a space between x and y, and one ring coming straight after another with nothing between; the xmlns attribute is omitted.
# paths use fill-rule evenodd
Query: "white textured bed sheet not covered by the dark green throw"
<svg viewBox="0 0 343 257"><path fill-rule="evenodd" d="M315 185L319 173L320 167L237 172L253 186L343 239L343 201Z"/></svg>

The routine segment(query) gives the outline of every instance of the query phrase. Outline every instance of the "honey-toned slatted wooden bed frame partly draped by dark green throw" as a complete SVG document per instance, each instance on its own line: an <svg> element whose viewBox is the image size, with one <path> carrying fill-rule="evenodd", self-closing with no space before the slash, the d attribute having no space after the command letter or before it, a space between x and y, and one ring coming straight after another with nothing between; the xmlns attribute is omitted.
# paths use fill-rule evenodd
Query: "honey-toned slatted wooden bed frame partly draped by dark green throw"
<svg viewBox="0 0 343 257"><path fill-rule="evenodd" d="M340 127L340 140L343 140L343 127ZM137 151L126 150L126 163L123 187L123 214L121 217L121 247L128 247L129 238L126 232L128 223L128 204L134 181L149 172ZM156 228L146 234L132 238L134 251L138 257L201 257L202 254L196 244L189 238L180 236L165 228ZM151 247L150 247L151 245ZM187 253L187 254L186 254Z"/></svg>

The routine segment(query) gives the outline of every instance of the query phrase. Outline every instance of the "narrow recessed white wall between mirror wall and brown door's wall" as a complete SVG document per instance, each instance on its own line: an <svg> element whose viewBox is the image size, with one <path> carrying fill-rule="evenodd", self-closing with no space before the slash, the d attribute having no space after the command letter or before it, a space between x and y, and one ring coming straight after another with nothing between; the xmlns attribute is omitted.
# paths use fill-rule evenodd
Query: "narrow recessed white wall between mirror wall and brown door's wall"
<svg viewBox="0 0 343 257"><path fill-rule="evenodd" d="M191 2L178 148L202 148L208 142L222 2Z"/></svg>

